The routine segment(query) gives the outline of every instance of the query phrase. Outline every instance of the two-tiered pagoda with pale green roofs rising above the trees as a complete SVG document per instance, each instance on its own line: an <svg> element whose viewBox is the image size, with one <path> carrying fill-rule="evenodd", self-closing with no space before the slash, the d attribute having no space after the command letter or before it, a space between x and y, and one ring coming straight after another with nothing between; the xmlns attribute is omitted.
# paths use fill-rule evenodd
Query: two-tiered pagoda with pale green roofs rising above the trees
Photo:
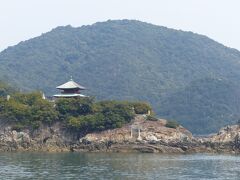
<svg viewBox="0 0 240 180"><path fill-rule="evenodd" d="M56 88L59 89L61 93L53 95L55 98L87 97L81 94L81 91L86 88L74 82L72 78L70 81L57 86Z"/></svg>

